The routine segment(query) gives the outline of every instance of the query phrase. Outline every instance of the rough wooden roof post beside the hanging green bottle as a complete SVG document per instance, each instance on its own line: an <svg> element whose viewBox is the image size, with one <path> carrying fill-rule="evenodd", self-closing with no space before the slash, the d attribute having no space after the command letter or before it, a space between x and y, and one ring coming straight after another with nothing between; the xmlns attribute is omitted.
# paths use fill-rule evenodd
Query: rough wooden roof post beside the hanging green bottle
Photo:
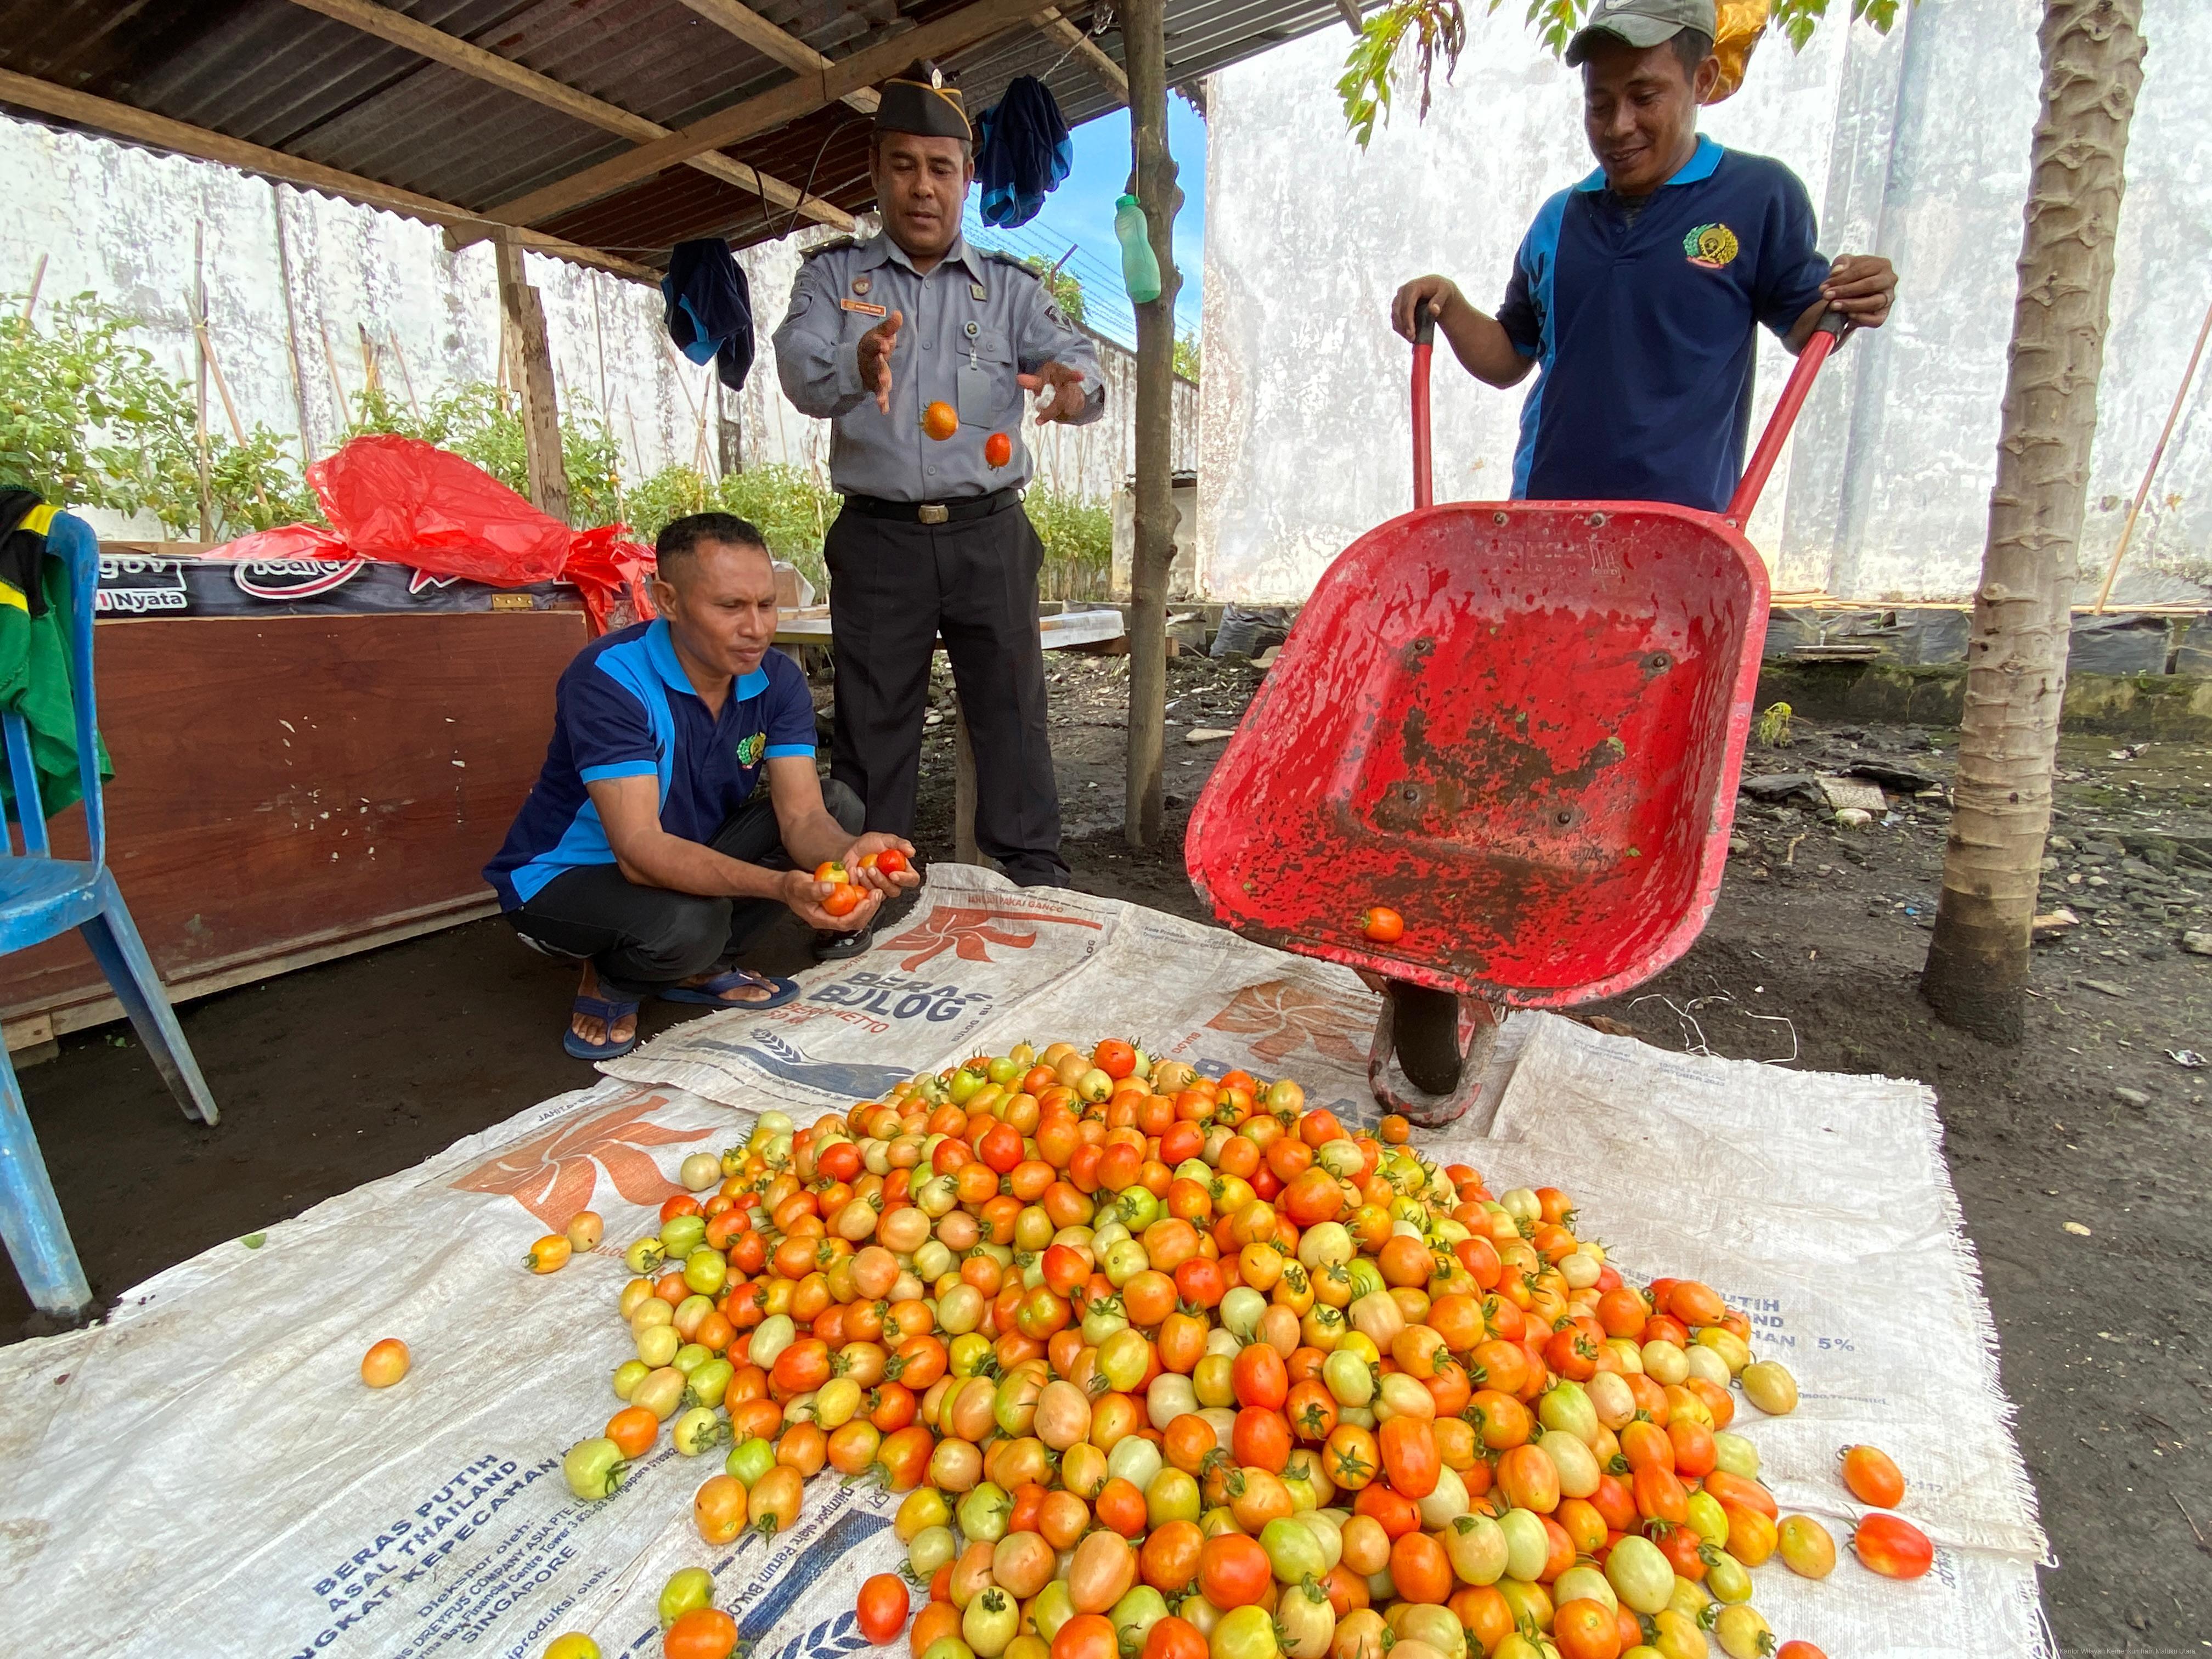
<svg viewBox="0 0 2212 1659"><path fill-rule="evenodd" d="M1133 847L1159 843L1168 728L1168 566L1175 562L1170 436L1175 422L1175 215L1183 192L1168 155L1166 0L1121 9L1128 137L1137 201L1159 259L1159 299L1137 305L1137 502L1128 611L1128 803Z"/></svg>

